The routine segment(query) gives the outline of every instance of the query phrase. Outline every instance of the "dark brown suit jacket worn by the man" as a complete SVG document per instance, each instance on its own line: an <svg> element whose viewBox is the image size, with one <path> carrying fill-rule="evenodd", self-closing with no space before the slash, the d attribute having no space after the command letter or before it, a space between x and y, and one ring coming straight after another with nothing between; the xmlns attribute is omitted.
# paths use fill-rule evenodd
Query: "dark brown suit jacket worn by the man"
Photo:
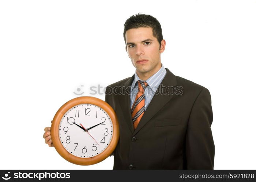
<svg viewBox="0 0 256 182"><path fill-rule="evenodd" d="M210 92L166 71L135 130L127 93L134 75L106 88L105 101L116 112L120 129L113 169L213 169Z"/></svg>

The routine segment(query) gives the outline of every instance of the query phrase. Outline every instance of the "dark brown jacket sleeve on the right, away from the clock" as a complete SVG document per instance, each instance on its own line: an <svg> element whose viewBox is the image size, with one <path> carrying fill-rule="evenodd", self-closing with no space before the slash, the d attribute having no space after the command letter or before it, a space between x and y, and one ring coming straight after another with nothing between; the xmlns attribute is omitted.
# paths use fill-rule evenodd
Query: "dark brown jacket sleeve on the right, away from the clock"
<svg viewBox="0 0 256 182"><path fill-rule="evenodd" d="M211 95L203 88L197 96L188 121L186 135L187 169L213 169L215 146L211 132Z"/></svg>

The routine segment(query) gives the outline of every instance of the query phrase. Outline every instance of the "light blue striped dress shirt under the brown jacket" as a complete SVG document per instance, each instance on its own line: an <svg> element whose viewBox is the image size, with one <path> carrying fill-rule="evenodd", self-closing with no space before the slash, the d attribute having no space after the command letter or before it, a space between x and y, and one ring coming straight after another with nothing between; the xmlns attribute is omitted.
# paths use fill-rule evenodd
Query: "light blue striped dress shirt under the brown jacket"
<svg viewBox="0 0 256 182"><path fill-rule="evenodd" d="M157 91L157 88L160 85L160 83L162 82L165 75L166 75L166 70L162 64L162 67L154 75L150 76L150 78L148 78L146 80L146 82L148 83L148 86L145 88L145 91L144 91L145 111L148 107L148 104L150 103L153 96L155 95L155 92ZM133 102L135 101L135 97L138 93L138 80L140 80L140 78L135 71L134 80L131 85L131 96L130 96L131 108L132 108ZM145 81L145 80L141 80L141 81Z"/></svg>

